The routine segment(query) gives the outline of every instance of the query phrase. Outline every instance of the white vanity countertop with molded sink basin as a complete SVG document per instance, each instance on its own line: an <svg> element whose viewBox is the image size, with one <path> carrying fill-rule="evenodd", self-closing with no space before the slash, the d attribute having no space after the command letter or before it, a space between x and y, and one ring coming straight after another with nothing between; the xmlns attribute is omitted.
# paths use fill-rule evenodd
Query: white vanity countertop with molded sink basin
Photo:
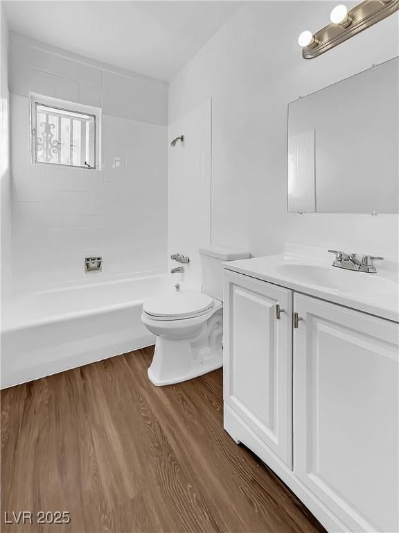
<svg viewBox="0 0 399 533"><path fill-rule="evenodd" d="M375 262L377 273L332 267L325 248L285 244L284 253L224 263L224 268L302 294L399 322L398 260Z"/></svg>

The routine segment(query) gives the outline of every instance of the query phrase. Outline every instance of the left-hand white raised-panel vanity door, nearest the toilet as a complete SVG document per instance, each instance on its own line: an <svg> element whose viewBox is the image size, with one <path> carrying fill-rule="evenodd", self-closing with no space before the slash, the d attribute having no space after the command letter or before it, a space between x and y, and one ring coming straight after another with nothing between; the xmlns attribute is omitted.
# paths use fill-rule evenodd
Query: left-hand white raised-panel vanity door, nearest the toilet
<svg viewBox="0 0 399 533"><path fill-rule="evenodd" d="M292 291L225 270L223 339L224 402L292 468Z"/></svg>

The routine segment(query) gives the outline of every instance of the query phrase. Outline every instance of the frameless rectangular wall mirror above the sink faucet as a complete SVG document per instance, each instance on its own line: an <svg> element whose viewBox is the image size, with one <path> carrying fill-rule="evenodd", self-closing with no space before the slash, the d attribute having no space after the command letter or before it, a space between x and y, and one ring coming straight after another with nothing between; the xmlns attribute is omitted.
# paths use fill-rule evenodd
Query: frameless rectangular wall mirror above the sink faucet
<svg viewBox="0 0 399 533"><path fill-rule="evenodd" d="M288 211L398 213L399 58L288 105Z"/></svg>

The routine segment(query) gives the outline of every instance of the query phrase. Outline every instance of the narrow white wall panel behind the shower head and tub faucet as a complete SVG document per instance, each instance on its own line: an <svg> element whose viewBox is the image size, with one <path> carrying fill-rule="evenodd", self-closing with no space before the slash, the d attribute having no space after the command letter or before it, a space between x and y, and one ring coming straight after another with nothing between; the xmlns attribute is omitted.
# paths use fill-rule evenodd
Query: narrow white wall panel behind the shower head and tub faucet
<svg viewBox="0 0 399 533"><path fill-rule="evenodd" d="M184 267L175 280L197 285L201 279L198 245L211 238L211 100L207 100L169 126L169 141L184 135L184 142L169 145L168 255L188 255L182 264L168 259L168 268ZM184 288L183 285L183 288Z"/></svg>

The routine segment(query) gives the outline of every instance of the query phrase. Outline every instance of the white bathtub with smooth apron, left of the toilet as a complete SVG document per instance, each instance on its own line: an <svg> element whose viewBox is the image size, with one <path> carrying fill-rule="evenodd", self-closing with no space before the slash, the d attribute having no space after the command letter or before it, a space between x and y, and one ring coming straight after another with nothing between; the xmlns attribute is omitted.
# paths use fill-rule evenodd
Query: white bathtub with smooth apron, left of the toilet
<svg viewBox="0 0 399 533"><path fill-rule="evenodd" d="M165 274L18 296L3 315L1 388L154 344L143 301L177 281Z"/></svg>

